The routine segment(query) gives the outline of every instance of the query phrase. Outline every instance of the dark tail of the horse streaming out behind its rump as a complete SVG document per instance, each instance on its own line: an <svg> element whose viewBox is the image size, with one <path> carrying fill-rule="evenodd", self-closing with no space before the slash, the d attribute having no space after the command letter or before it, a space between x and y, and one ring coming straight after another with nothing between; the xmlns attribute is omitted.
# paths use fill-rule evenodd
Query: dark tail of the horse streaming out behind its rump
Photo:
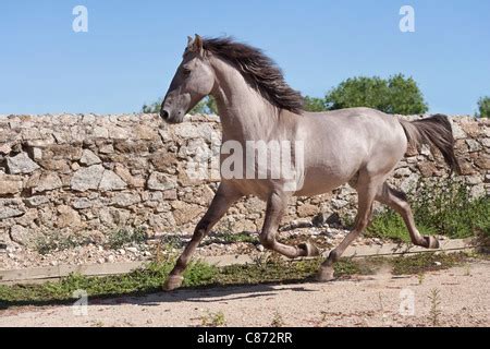
<svg viewBox="0 0 490 349"><path fill-rule="evenodd" d="M400 119L409 146L420 149L422 144L436 146L444 157L451 172L461 173L460 165L454 155L454 137L451 122L446 116L434 115L430 118L406 121Z"/></svg>

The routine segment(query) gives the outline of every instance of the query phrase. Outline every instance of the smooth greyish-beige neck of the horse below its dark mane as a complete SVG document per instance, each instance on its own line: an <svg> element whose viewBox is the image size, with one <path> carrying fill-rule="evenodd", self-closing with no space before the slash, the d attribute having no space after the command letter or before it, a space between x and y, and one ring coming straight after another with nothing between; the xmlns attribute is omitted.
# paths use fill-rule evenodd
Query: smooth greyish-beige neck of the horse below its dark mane
<svg viewBox="0 0 490 349"><path fill-rule="evenodd" d="M278 108L249 86L243 75L230 64L213 62L217 84L212 96L217 100L223 129L223 141L268 140L279 122Z"/></svg>

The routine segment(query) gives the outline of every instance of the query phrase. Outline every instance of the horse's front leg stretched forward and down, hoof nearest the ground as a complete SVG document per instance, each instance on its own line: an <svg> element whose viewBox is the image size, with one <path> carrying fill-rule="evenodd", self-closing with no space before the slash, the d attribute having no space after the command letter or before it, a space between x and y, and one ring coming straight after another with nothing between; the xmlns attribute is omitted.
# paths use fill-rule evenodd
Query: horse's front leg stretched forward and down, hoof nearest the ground
<svg viewBox="0 0 490 349"><path fill-rule="evenodd" d="M199 220L194 230L194 236L182 252L181 256L175 263L174 268L169 275L166 284L163 285L164 290L173 290L181 287L184 277L183 274L187 267L192 255L196 251L200 241L208 234L209 230L220 220L220 218L226 213L233 203L235 203L242 194L240 194L235 189L225 184L224 182L220 184L218 191L212 198L211 205Z"/></svg>

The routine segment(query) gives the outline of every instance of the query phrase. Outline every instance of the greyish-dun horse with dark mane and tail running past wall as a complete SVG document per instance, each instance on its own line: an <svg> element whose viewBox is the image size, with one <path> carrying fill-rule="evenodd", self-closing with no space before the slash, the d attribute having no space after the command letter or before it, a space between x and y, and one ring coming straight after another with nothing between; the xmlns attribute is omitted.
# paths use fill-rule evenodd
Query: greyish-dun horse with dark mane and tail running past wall
<svg viewBox="0 0 490 349"><path fill-rule="evenodd" d="M422 144L439 149L451 172L460 171L446 116L407 121L370 108L307 112L302 95L287 85L282 71L261 50L230 37L204 38L196 34L187 39L182 62L161 104L160 117L167 123L183 122L184 116L210 95L217 101L223 145L234 142L247 148L254 142L290 142L303 146L294 149L291 146L290 154L295 173L293 184L297 185L291 185L291 176L282 173L246 176L250 168L270 174L277 167L271 165L273 161L258 161L254 157L247 166L235 164L235 176L221 174L216 195L163 284L164 290L181 287L183 273L200 241L232 204L247 195L267 203L259 233L264 248L296 258L320 253L309 242L293 246L277 240L289 198L322 194L344 183L357 191L358 210L353 229L329 252L316 276L318 281L334 279L333 264L368 226L375 201L403 217L414 244L439 248L434 237L419 233L406 194L390 186L387 178L408 147L420 149ZM274 156L270 149L269 153ZM221 166L231 156L250 159L240 152L223 152L222 146Z"/></svg>

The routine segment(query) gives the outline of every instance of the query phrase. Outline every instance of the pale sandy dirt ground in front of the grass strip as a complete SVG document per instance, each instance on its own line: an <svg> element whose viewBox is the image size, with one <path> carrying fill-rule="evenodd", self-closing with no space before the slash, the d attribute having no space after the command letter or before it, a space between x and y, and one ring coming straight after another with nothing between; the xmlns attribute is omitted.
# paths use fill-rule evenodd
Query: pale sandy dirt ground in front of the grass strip
<svg viewBox="0 0 490 349"><path fill-rule="evenodd" d="M11 308L0 326L489 326L490 262L421 276L181 289L71 305ZM413 302L411 301L413 299Z"/></svg>

